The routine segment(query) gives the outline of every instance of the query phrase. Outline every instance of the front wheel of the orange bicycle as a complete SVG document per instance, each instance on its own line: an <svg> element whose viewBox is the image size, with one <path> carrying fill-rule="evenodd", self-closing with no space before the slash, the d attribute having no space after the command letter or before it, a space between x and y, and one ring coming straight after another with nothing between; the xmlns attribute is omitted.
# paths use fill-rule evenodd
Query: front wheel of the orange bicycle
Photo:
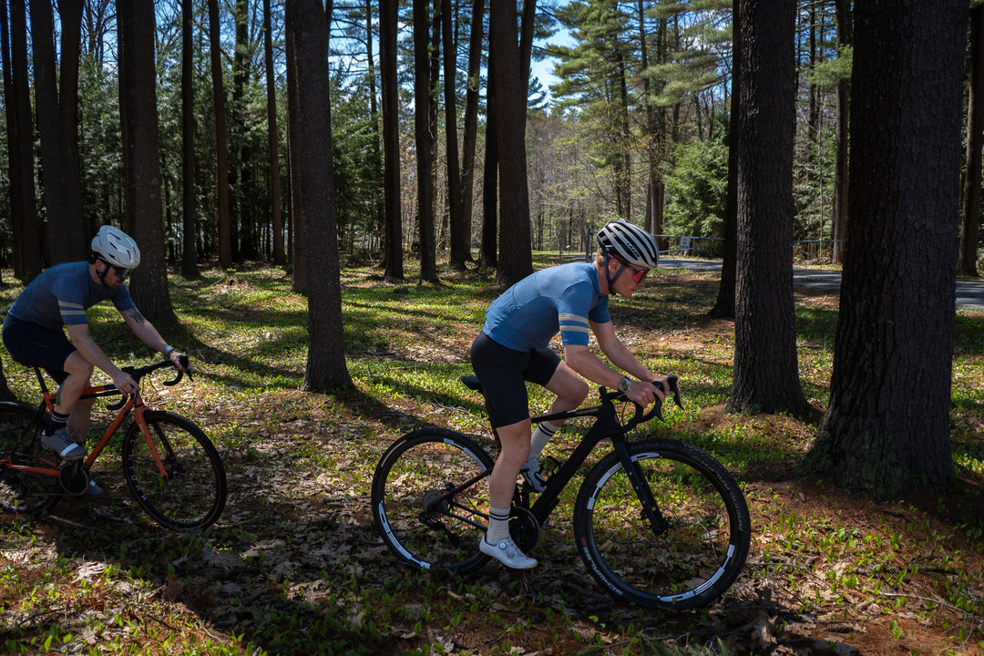
<svg viewBox="0 0 984 656"><path fill-rule="evenodd" d="M148 411L144 419L150 441L136 422L123 438L123 471L134 499L166 528L211 526L225 507L225 468L218 451L184 417Z"/></svg>

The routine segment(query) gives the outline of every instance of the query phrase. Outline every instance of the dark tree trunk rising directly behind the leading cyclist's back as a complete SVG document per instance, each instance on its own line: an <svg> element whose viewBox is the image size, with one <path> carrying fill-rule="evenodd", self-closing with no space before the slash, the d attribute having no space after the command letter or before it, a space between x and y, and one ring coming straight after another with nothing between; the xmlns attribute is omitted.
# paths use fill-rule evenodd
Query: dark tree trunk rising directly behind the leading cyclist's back
<svg viewBox="0 0 984 656"><path fill-rule="evenodd" d="M535 0L523 3L523 18L530 16ZM518 33L516 2L503 0L489 6L489 40L495 62L495 111L499 156L499 266L496 280L508 287L532 272L529 232L529 188L526 181L526 88L528 55ZM526 68L523 68L525 63ZM501 126L509 126L508 130Z"/></svg>

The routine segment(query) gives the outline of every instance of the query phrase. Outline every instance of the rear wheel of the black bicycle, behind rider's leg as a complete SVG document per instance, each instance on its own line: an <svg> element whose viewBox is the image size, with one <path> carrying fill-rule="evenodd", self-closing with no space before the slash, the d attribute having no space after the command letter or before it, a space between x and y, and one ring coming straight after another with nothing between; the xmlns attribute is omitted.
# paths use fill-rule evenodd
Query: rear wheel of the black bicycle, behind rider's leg
<svg viewBox="0 0 984 656"><path fill-rule="evenodd" d="M488 522L482 474L492 464L474 441L440 428L393 443L372 481L373 517L387 546L417 567L467 573L488 563L478 543Z"/></svg>

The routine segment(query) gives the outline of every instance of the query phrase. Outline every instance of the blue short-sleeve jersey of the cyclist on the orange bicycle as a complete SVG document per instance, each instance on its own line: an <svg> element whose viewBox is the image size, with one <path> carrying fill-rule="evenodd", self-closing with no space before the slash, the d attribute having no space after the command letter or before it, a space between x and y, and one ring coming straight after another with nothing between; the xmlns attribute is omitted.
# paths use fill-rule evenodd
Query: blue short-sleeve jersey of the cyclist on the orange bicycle
<svg viewBox="0 0 984 656"><path fill-rule="evenodd" d="M110 289L92 282L89 263L70 262L47 268L21 292L9 314L50 330L88 324L86 310L111 300L120 312L135 307L126 285Z"/></svg>

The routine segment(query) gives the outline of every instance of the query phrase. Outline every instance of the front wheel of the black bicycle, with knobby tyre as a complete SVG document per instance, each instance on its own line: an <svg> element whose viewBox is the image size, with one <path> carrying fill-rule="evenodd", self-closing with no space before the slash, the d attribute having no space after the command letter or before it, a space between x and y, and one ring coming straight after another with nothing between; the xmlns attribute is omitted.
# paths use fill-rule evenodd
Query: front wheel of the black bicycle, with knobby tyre
<svg viewBox="0 0 984 656"><path fill-rule="evenodd" d="M738 577L752 537L738 484L713 457L671 440L628 443L665 525L653 529L617 453L588 472L574 534L588 571L646 608L699 608Z"/></svg>

